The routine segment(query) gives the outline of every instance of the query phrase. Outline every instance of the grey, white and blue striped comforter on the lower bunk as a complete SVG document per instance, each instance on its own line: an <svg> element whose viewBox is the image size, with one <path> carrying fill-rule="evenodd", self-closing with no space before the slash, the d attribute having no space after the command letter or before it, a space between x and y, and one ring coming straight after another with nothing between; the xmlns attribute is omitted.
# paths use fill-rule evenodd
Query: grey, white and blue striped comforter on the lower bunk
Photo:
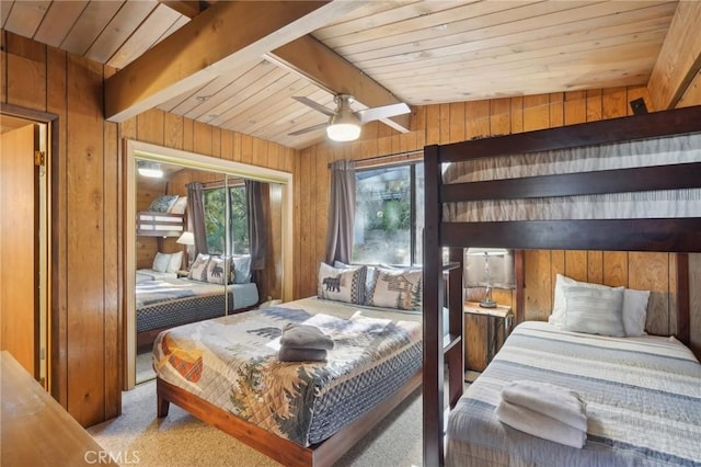
<svg viewBox="0 0 701 467"><path fill-rule="evenodd" d="M509 380L549 381L586 402L582 449L502 424ZM514 329L450 413L446 465L701 466L701 365L674 338L607 338L544 322Z"/></svg>

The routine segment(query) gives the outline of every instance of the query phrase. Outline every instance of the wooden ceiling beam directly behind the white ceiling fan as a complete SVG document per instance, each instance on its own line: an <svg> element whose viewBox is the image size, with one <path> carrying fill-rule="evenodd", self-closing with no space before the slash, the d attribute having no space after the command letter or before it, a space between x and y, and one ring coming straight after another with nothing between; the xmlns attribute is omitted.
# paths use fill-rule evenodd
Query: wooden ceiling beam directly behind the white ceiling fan
<svg viewBox="0 0 701 467"><path fill-rule="evenodd" d="M311 35L301 36L266 55L284 67L325 89L332 94L350 94L368 107L397 104L402 101L345 58ZM382 122L401 133L410 130L410 114Z"/></svg>

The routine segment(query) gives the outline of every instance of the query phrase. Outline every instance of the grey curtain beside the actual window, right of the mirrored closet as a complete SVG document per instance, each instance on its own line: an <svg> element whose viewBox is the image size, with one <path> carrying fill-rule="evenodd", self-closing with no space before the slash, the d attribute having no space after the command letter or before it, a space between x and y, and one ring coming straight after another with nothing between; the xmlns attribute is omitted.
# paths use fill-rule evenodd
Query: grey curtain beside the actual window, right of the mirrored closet
<svg viewBox="0 0 701 467"><path fill-rule="evenodd" d="M331 196L326 231L326 263L350 263L353 226L355 223L355 162L337 160L331 163Z"/></svg>

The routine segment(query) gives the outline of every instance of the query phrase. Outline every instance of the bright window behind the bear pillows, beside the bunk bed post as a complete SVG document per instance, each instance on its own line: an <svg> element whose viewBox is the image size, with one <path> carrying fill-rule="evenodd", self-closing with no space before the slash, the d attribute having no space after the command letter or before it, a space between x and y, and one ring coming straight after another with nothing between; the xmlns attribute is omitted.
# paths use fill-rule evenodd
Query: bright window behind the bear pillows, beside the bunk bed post
<svg viewBox="0 0 701 467"><path fill-rule="evenodd" d="M424 164L358 170L353 262L422 263Z"/></svg>

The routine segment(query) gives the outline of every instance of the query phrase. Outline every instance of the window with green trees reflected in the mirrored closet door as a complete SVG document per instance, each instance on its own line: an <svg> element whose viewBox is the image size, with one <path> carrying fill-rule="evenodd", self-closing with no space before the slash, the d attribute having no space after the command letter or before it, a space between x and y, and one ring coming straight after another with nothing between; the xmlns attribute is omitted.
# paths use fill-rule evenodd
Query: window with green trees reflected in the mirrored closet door
<svg viewBox="0 0 701 467"><path fill-rule="evenodd" d="M229 194L227 200L227 193ZM227 226L229 218L229 251L233 254L249 253L249 219L245 202L245 186L229 186L205 190L205 230L207 251L225 254L227 251ZM227 216L227 204L231 216Z"/></svg>

